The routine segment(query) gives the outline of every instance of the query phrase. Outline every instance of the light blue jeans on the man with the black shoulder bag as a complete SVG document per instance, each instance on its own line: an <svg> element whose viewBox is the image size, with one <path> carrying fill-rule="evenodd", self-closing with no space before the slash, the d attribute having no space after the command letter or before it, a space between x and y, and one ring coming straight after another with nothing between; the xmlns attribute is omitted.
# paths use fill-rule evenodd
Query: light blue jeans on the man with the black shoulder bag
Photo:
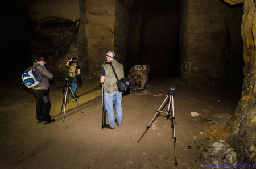
<svg viewBox="0 0 256 169"><path fill-rule="evenodd" d="M104 92L105 109L108 115L109 125L115 127L115 116L114 116L114 104L115 104L115 114L117 116L117 124L122 124L122 92Z"/></svg>

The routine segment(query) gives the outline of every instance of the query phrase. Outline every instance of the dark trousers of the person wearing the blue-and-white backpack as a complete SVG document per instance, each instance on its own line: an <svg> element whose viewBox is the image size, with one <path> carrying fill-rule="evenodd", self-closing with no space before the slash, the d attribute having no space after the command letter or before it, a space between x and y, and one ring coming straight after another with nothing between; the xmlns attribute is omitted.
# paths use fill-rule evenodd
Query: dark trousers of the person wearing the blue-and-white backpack
<svg viewBox="0 0 256 169"><path fill-rule="evenodd" d="M33 89L33 91L36 96L36 119L50 121L52 117L49 115L51 109L49 91L36 89Z"/></svg>

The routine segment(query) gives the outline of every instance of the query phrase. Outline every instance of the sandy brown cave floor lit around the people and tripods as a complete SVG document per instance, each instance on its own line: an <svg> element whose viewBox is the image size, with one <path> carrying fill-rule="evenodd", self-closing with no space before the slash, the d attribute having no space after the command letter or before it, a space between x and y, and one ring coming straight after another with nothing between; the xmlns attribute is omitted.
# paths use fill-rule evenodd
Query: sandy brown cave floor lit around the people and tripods
<svg viewBox="0 0 256 169"><path fill-rule="evenodd" d="M0 168L204 168L210 160L203 151L228 135L224 126L241 96L240 88L195 87L179 78L149 77L146 90L123 95L123 123L112 131L101 128L98 79L83 81L77 101L84 113L70 100L65 121L60 113L63 81L55 81L50 98L56 122L47 125L36 123L35 97L32 103L21 83L16 78L15 83L0 84ZM142 137L170 86L175 86L176 151L166 113L160 113Z"/></svg>

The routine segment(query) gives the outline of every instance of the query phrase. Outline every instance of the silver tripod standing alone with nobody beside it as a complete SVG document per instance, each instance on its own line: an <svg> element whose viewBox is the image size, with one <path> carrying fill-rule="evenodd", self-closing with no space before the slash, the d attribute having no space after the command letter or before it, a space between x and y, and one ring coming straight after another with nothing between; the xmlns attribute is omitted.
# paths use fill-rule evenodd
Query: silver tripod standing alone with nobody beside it
<svg viewBox="0 0 256 169"><path fill-rule="evenodd" d="M166 120L168 120L169 117L171 116L171 121L172 121L172 123L171 123L171 127L172 127L172 140L174 140L175 165L177 165L177 160L176 160L176 137L175 137L175 130L174 130L174 129L175 129L175 128L174 128L174 120L175 120L175 117L174 117L174 90L175 90L175 86L170 86L170 91L169 91L169 93L168 93L166 99L164 99L164 102L162 103L162 105L160 106L160 108L158 109L158 111L156 111L155 116L154 116L153 119L151 120L150 124L147 126L147 129L146 129L146 131L142 134L141 138L142 138L142 137L144 136L144 134L147 132L148 128L150 128L150 126L151 126L152 122L155 120L156 116L158 116L159 113L162 112L162 111L160 111L160 110L162 110L161 108L162 108L163 104L166 102L167 98L170 98L170 99L169 99L169 104L168 104L168 109L167 109L166 112L163 112L163 113L167 113L167 116L166 116L167 119L166 119ZM169 113L170 113L170 107L172 107L172 109L171 109L171 115L169 115ZM139 141L141 140L141 138L139 139ZM138 141L138 142L139 142L139 141Z"/></svg>

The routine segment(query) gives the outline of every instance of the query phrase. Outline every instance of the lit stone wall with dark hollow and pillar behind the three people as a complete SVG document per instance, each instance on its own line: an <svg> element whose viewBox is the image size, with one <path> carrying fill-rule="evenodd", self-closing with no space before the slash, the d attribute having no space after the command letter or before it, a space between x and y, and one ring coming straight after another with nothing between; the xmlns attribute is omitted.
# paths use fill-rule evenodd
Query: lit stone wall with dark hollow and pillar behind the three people
<svg viewBox="0 0 256 169"><path fill-rule="evenodd" d="M82 75L99 77L108 50L125 60L131 2L31 0L32 58L44 56L48 69L60 77L68 73L65 63L77 57ZM47 9L47 10L46 10Z"/></svg>

